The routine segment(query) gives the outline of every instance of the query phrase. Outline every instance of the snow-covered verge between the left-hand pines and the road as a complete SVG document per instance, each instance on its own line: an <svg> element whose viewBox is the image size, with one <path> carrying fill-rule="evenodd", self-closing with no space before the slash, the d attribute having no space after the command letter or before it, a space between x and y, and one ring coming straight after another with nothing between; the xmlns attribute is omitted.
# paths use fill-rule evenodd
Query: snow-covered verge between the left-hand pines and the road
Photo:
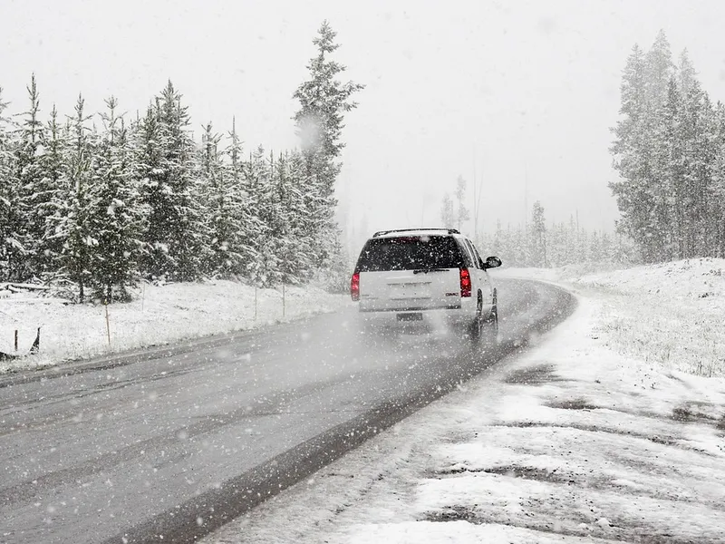
<svg viewBox="0 0 725 544"><path fill-rule="evenodd" d="M13 293L0 286L0 352L27 354L41 327L39 355L0 361L0 372L245 330L348 304L347 295L286 287L283 306L281 287L255 290L231 281L144 285L134 291L132 302L108 308L64 304L62 298L34 291Z"/></svg>

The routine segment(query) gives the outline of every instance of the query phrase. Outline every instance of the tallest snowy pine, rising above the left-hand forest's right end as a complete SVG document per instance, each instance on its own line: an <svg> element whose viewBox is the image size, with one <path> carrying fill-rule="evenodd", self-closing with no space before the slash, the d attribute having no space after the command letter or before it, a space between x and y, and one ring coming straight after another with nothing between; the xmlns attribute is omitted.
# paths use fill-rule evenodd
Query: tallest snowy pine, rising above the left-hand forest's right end
<svg viewBox="0 0 725 544"><path fill-rule="evenodd" d="M293 119L302 141L307 178L310 190L318 195L314 201L320 204L319 209L314 210L317 238L314 250L318 267L325 267L335 248L339 247L338 229L333 219L337 205L334 183L341 169L344 113L357 107L351 97L363 89L359 83L342 83L337 79L345 66L330 59L339 47L334 42L335 35L330 24L324 21L313 40L317 54L307 65L309 79L300 84L293 95L300 102L300 109Z"/></svg>

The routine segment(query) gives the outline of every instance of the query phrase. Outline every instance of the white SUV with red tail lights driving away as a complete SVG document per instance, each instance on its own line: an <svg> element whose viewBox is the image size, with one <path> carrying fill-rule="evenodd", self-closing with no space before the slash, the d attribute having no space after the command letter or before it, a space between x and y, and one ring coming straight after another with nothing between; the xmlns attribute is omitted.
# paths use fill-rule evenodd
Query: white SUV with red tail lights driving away
<svg viewBox="0 0 725 544"><path fill-rule="evenodd" d="M350 292L366 325L447 324L478 341L484 325L498 333L497 291L469 238L453 228L383 230L362 248Z"/></svg>

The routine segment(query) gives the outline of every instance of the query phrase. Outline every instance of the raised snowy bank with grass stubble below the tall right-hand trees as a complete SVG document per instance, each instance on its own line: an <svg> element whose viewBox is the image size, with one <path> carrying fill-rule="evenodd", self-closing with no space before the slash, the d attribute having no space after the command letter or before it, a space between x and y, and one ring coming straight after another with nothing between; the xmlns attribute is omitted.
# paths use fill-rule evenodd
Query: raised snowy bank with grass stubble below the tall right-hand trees
<svg viewBox="0 0 725 544"><path fill-rule="evenodd" d="M508 268L498 275L550 281L600 298L598 332L621 355L664 370L725 375L725 259L598 272L592 267Z"/></svg>

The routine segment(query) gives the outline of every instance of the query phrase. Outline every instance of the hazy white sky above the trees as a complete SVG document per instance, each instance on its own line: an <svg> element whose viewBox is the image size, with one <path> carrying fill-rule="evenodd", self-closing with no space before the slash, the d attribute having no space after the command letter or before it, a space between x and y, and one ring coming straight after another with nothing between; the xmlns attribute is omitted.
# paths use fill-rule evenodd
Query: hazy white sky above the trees
<svg viewBox="0 0 725 544"><path fill-rule="evenodd" d="M607 182L623 64L664 29L687 47L705 89L725 99L725 3L674 1L0 0L0 86L12 112L35 73L43 112L89 112L111 93L141 111L168 79L198 132L232 115L247 149L296 145L292 92L324 18L337 59L367 85L347 118L340 198L369 230L440 223L440 200L473 168L479 229L515 225L541 200L547 219L617 217ZM471 228L468 228L470 231Z"/></svg>

